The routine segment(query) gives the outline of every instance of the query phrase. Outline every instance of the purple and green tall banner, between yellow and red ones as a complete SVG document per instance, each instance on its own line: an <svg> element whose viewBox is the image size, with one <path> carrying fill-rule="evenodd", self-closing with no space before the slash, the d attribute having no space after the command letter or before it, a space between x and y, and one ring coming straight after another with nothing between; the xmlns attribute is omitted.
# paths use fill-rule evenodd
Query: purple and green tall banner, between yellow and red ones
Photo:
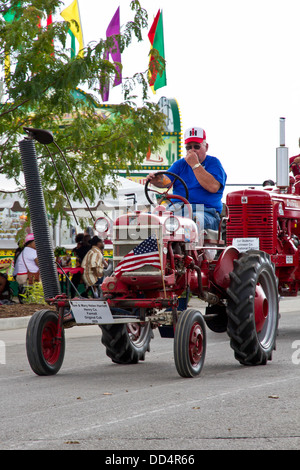
<svg viewBox="0 0 300 470"><path fill-rule="evenodd" d="M109 38L111 36L119 35L120 34L120 7L117 8L114 16L111 19L111 22L109 23L107 30L106 30L106 38ZM119 48L118 41L114 39L114 46L110 48L109 51L106 52L105 54L105 59L109 59L109 55L111 55L112 60L114 63L118 62L121 64L121 52ZM121 72L121 67L119 65L116 65L116 76L115 76L115 81L113 86L120 85L122 83L122 72ZM109 82L103 87L101 90L101 95L103 101L108 101L109 98Z"/></svg>

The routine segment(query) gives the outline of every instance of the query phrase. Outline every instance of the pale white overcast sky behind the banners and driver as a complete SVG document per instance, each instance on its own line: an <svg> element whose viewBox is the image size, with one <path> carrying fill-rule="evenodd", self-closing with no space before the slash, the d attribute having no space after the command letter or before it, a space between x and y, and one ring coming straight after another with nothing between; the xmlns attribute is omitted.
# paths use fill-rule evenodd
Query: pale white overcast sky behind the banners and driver
<svg viewBox="0 0 300 470"><path fill-rule="evenodd" d="M72 0L66 0L68 6ZM78 0L84 42L105 37L129 0ZM299 0L141 0L149 28L163 10L167 86L150 97L175 98L183 130L206 130L209 153L222 161L228 183L276 179L279 118L286 118L289 155L300 152ZM148 29L149 29L148 28ZM143 71L150 48L144 31L122 57L124 75ZM120 87L110 93L120 99Z"/></svg>

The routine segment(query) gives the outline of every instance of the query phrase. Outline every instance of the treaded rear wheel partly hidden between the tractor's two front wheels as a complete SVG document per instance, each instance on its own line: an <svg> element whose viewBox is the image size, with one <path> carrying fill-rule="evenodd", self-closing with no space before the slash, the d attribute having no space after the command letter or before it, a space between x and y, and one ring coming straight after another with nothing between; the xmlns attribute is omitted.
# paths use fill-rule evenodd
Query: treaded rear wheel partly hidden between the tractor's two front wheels
<svg viewBox="0 0 300 470"><path fill-rule="evenodd" d="M117 364L137 364L150 351L153 331L150 322L101 325L106 354Z"/></svg>

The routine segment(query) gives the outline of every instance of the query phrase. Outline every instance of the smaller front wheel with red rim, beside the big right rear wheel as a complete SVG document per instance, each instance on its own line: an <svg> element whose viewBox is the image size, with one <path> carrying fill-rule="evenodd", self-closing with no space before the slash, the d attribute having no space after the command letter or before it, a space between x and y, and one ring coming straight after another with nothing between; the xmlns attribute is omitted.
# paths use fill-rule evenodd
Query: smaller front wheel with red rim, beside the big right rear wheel
<svg viewBox="0 0 300 470"><path fill-rule="evenodd" d="M187 309L178 318L174 337L174 359L181 377L195 377L204 365L206 330L199 310Z"/></svg>

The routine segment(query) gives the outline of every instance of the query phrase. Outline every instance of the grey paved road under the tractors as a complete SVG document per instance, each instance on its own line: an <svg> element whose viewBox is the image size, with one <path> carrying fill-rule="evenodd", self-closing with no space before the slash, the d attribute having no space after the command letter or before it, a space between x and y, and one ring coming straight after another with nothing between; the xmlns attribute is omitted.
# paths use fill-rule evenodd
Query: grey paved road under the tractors
<svg viewBox="0 0 300 470"><path fill-rule="evenodd" d="M120 366L106 357L98 327L74 327L66 331L60 372L37 377L25 329L0 331L0 449L104 449L116 456L121 449L299 449L298 306L300 299L281 301L277 350L267 366L241 366L226 333L208 331L195 379L177 374L173 340L158 332L144 362Z"/></svg>

